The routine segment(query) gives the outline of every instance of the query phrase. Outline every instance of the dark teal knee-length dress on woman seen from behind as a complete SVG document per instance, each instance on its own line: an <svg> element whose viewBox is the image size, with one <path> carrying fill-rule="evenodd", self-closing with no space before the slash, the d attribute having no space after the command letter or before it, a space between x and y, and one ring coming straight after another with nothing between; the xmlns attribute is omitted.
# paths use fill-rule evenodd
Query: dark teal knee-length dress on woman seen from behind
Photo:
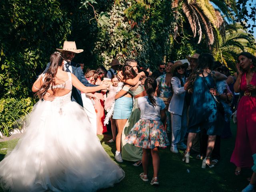
<svg viewBox="0 0 256 192"><path fill-rule="evenodd" d="M204 78L204 79L203 79ZM204 81L205 80L205 81ZM212 76L197 76L190 102L188 132L198 133L206 129L208 135L220 135L223 118L217 112L217 107L209 88L215 87Z"/></svg>

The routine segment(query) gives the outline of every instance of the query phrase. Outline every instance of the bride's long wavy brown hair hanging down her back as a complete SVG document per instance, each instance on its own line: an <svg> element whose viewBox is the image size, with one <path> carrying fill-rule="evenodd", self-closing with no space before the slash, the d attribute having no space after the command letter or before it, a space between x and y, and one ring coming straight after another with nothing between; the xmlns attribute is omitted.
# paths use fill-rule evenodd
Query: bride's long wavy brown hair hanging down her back
<svg viewBox="0 0 256 192"><path fill-rule="evenodd" d="M60 52L54 52L50 56L50 67L46 71L46 74L44 76L44 83L42 84L40 90L38 92L36 92L35 96L42 99L44 94L46 94L46 92L49 90L50 86L56 85L54 77L56 76L58 67L62 66L63 60L64 59L63 59L62 53L60 53ZM54 94L55 90L52 88L52 86L51 86L51 90Z"/></svg>

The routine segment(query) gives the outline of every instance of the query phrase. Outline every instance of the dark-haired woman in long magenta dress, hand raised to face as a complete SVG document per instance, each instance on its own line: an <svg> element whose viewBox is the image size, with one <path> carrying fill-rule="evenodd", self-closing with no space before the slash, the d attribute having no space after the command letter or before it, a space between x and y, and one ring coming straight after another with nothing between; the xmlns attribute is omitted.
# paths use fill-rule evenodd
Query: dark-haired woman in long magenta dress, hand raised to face
<svg viewBox="0 0 256 192"><path fill-rule="evenodd" d="M230 162L236 165L235 174L240 175L242 168L255 166L256 162L256 57L240 53L236 68L234 91L242 97L237 107L236 144Z"/></svg>

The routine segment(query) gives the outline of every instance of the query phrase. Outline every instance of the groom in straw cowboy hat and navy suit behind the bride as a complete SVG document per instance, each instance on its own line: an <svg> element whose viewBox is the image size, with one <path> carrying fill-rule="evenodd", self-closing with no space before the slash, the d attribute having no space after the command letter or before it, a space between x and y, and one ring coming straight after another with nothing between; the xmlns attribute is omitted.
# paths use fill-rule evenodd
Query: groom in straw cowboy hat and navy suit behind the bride
<svg viewBox="0 0 256 192"><path fill-rule="evenodd" d="M65 41L63 48L57 49L57 50L63 53L63 56L65 58L64 70L66 72L71 72L72 74L74 74L78 78L78 80L80 80L80 82L84 84L84 86L87 86L87 87L98 86L98 85L90 84L88 80L84 77L84 73L80 65L75 62L72 62L76 53L81 53L84 51L82 49L76 49L76 43L74 41ZM46 69L44 70L44 73L46 73L49 67L50 67L50 62L47 64ZM83 107L81 92L80 90L76 89L74 86L72 88L71 98L72 98L72 101L77 102L78 104L80 104L80 106ZM45 94L44 96L44 100L53 101L54 99L55 99L54 95Z"/></svg>

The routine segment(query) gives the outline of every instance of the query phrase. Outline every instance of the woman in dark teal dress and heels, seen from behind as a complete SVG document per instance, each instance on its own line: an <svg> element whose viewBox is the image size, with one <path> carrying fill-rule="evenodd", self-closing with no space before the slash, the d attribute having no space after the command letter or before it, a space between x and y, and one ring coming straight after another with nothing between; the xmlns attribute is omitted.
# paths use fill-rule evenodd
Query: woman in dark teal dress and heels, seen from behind
<svg viewBox="0 0 256 192"><path fill-rule="evenodd" d="M214 166L211 164L210 155L214 148L216 135L220 135L222 132L218 124L220 123L219 118L222 117L217 111L210 89L214 88L215 80L225 80L226 76L212 71L213 63L214 58L211 54L200 54L196 68L194 68L184 85L184 89L192 93L192 98L189 111L187 149L182 160L186 160L186 163L189 162L190 149L196 133L205 129L209 136L206 158L202 162L202 168L206 168L206 164L210 168Z"/></svg>

